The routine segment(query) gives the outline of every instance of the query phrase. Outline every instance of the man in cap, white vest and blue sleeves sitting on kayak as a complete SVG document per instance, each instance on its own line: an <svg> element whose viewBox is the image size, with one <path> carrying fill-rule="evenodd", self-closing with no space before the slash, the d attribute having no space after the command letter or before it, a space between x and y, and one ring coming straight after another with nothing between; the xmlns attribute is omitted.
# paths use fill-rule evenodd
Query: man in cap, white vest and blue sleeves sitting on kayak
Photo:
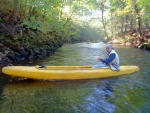
<svg viewBox="0 0 150 113"><path fill-rule="evenodd" d="M98 58L101 61L100 64L96 64L94 68L107 68L110 67L113 71L119 71L119 56L112 47L112 45L106 46L106 51L108 52L108 57L104 60L101 57Z"/></svg>

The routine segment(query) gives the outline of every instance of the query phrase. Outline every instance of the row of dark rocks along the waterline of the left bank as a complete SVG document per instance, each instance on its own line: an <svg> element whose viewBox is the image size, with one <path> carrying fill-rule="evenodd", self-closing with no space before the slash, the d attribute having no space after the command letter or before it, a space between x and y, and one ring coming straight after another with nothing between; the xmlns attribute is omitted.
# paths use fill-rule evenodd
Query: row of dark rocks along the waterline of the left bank
<svg viewBox="0 0 150 113"><path fill-rule="evenodd" d="M29 47L21 44L8 47L4 43L0 43L0 66L13 65L13 63L24 60L30 62L37 58L46 57L53 54L61 46L62 43L55 41Z"/></svg>

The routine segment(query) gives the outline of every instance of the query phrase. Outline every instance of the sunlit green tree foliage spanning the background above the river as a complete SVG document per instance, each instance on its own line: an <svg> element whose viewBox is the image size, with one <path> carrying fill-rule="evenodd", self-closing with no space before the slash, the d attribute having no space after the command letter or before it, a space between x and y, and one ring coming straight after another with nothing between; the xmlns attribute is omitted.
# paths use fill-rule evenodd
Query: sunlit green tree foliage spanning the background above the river
<svg viewBox="0 0 150 113"><path fill-rule="evenodd" d="M52 37L55 37L52 34L55 33L57 36L64 37L63 39L71 37L75 40L109 38L115 33L125 32L131 28L136 29L136 16L140 17L141 25L150 27L149 10L150 2L148 0L0 1L0 11L8 11L9 14L12 14L9 18L15 21L20 20L21 26L36 32L40 31L43 34L51 34ZM84 20L82 17L86 19ZM100 21L103 27L97 27L98 24L95 26L96 28L90 24L87 28L82 26L85 21L94 21L92 17ZM5 17L5 19L8 18ZM1 17L0 22L3 21L4 18Z"/></svg>

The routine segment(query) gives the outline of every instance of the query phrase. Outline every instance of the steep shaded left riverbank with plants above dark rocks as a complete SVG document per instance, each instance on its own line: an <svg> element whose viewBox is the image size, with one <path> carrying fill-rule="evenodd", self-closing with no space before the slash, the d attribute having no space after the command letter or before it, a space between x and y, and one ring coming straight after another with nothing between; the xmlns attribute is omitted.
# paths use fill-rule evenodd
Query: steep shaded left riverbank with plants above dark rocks
<svg viewBox="0 0 150 113"><path fill-rule="evenodd" d="M43 33L23 26L19 14L14 20L11 11L0 10L0 16L0 67L49 56L63 45L55 30Z"/></svg>

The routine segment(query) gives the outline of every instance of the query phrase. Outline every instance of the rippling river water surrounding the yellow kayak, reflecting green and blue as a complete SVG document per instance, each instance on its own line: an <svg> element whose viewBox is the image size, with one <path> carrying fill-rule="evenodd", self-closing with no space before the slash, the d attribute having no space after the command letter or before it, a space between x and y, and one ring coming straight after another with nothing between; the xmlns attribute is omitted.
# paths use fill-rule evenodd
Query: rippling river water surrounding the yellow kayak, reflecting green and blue
<svg viewBox="0 0 150 113"><path fill-rule="evenodd" d="M65 44L42 60L27 65L94 65L105 57L104 43ZM0 113L149 113L150 53L114 46L121 65L140 71L113 78L36 81L0 74Z"/></svg>

